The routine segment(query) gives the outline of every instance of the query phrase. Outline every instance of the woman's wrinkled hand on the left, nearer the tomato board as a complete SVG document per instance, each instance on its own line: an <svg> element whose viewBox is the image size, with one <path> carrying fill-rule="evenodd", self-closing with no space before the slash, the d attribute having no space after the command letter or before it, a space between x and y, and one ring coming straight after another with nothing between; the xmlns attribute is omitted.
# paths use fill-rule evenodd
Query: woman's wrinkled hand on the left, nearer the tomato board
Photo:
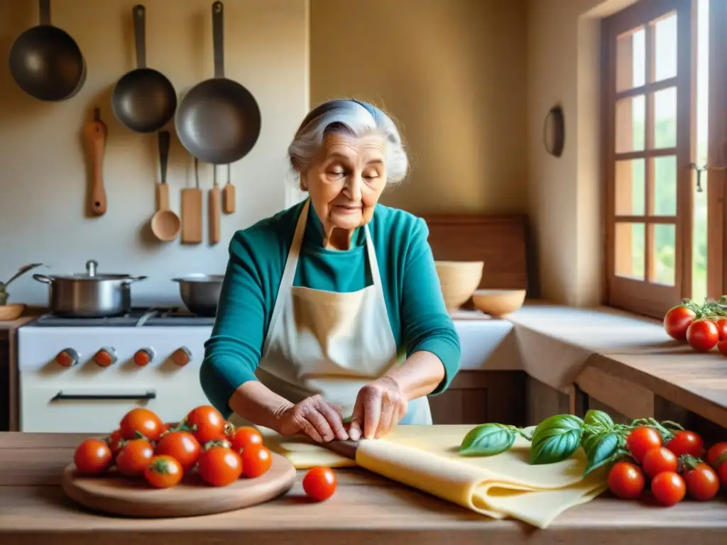
<svg viewBox="0 0 727 545"><path fill-rule="evenodd" d="M326 403L321 395L306 397L278 416L278 432L283 437L305 433L316 443L347 440L340 408Z"/></svg>

